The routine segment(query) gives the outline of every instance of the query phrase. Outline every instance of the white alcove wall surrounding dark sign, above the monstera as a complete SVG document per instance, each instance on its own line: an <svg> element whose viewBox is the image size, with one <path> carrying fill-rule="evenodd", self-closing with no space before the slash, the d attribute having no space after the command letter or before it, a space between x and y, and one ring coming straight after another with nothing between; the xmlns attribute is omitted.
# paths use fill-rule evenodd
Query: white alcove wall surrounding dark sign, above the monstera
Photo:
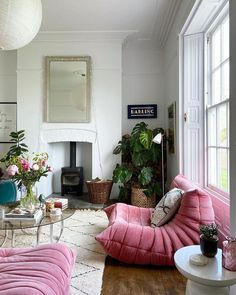
<svg viewBox="0 0 236 295"><path fill-rule="evenodd" d="M122 58L122 133L130 133L138 122L164 128L163 54L157 44L127 41ZM128 104L157 104L157 119L128 119Z"/></svg>

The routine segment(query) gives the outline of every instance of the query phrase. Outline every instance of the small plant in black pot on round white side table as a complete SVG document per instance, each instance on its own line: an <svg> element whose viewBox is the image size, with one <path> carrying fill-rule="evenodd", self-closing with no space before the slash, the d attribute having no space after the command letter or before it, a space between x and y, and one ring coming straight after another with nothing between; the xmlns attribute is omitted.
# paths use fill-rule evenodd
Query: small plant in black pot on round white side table
<svg viewBox="0 0 236 295"><path fill-rule="evenodd" d="M200 226L200 248L202 254L207 257L214 257L217 253L218 226L215 223L203 224Z"/></svg>

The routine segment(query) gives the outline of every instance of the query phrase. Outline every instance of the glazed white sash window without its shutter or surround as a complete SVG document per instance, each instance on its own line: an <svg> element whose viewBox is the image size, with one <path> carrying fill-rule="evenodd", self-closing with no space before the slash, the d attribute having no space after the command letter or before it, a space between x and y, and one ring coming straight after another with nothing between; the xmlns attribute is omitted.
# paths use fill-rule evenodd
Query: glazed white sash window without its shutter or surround
<svg viewBox="0 0 236 295"><path fill-rule="evenodd" d="M208 34L207 186L229 192L229 16Z"/></svg>

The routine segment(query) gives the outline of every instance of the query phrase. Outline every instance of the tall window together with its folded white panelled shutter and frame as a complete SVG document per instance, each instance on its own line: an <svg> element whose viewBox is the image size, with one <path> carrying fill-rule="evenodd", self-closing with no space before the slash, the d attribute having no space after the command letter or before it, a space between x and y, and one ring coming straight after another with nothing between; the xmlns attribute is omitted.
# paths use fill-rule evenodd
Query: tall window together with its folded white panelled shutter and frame
<svg viewBox="0 0 236 295"><path fill-rule="evenodd" d="M212 2L207 3L211 5ZM228 4L197 28L196 24L201 23L201 11L195 13L198 21L193 19L183 35L181 172L203 187L228 197ZM208 19L206 15L205 19Z"/></svg>

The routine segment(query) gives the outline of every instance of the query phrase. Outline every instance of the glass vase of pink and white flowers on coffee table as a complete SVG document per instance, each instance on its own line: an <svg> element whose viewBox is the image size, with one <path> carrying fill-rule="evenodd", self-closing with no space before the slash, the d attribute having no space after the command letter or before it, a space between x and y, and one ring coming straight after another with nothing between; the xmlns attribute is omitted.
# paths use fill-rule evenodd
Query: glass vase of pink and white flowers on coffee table
<svg viewBox="0 0 236 295"><path fill-rule="evenodd" d="M48 172L52 171L51 166L47 165L47 153L33 153L33 159L30 162L28 156L12 156L9 159L10 165L6 172L11 179L18 183L23 193L21 197L21 206L28 209L34 209L39 205L37 194L34 187L41 177L46 177Z"/></svg>

